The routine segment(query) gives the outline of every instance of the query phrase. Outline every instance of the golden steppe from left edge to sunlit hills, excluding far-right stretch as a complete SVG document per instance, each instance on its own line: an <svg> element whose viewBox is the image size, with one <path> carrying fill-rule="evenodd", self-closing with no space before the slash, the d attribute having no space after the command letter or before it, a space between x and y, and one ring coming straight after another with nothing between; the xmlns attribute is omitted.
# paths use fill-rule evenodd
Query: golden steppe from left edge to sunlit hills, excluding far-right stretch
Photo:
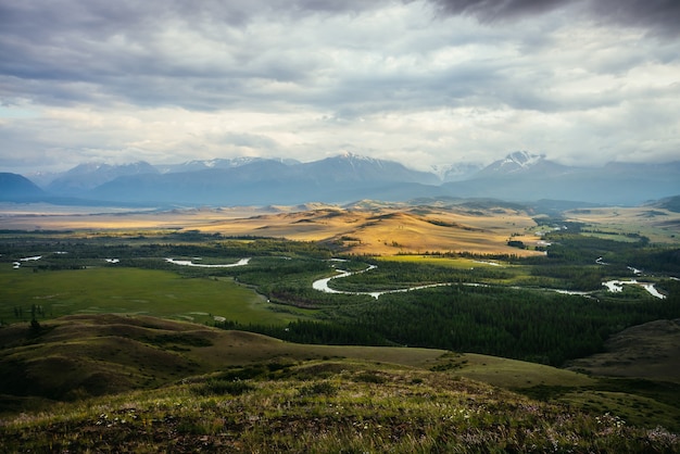
<svg viewBox="0 0 680 454"><path fill-rule="evenodd" d="M171 211L89 213L54 207L0 210L2 229L23 230L200 230L227 237L269 237L342 244L354 254L473 252L531 255L507 245L513 236L532 236L526 211L492 206L426 206L362 202L350 207L203 207Z"/></svg>

